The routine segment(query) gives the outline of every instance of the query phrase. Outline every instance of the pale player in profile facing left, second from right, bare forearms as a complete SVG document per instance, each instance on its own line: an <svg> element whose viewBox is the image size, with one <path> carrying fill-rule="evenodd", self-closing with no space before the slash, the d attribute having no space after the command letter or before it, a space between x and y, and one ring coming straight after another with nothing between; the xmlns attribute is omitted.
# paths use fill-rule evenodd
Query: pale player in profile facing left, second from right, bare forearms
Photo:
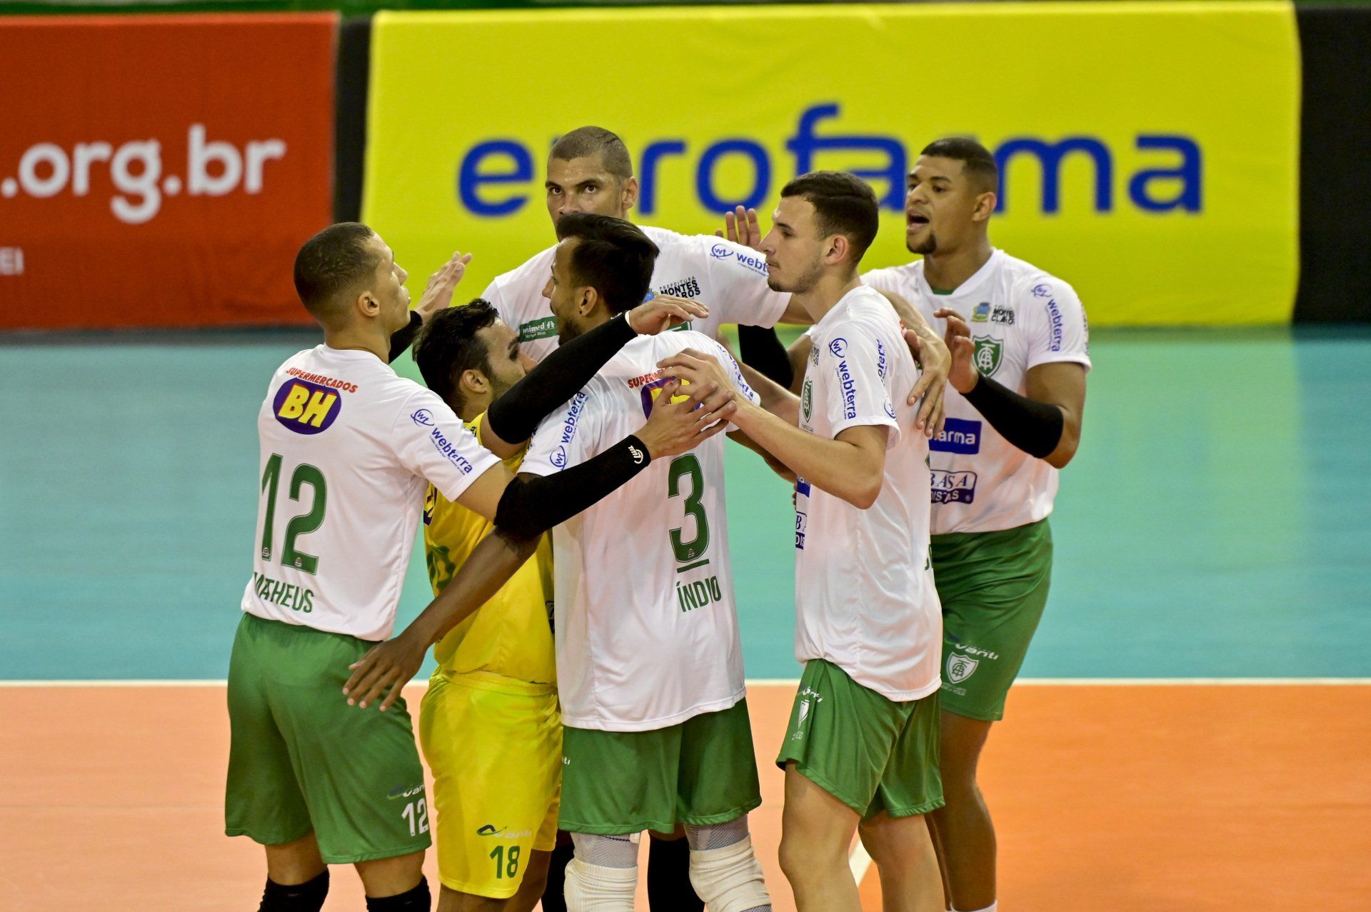
<svg viewBox="0 0 1371 912"><path fill-rule="evenodd" d="M942 805L928 440L901 395L914 377L901 326L857 274L876 226L876 196L851 174L817 171L781 191L761 248L772 287L813 315L816 344L798 399L775 388L766 411L739 399L733 417L799 477L795 657L805 671L777 764L780 861L801 912L860 912L847 864L858 830L886 908L942 909L924 820ZM724 379L694 352L662 370Z"/></svg>

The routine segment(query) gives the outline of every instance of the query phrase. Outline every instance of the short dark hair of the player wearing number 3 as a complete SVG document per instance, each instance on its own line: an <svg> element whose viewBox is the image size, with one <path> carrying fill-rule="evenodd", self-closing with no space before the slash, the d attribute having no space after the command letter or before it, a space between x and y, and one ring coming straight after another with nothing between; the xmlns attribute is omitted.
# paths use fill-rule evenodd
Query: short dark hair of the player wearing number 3
<svg viewBox="0 0 1371 912"><path fill-rule="evenodd" d="M657 263L657 244L638 225L613 215L568 213L557 219L557 239L574 237L572 276L605 299L611 314L647 298Z"/></svg>

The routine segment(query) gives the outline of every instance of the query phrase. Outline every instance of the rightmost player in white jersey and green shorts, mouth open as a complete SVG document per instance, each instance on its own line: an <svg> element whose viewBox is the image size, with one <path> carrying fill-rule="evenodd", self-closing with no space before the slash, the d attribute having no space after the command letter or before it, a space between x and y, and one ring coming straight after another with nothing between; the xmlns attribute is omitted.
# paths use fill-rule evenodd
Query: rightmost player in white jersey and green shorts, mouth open
<svg viewBox="0 0 1371 912"><path fill-rule="evenodd" d="M997 185L980 144L927 145L905 199L908 245L923 259L862 277L973 344L953 368L947 424L931 444L947 797L934 824L951 904L964 912L995 909L995 831L976 763L1047 601L1047 514L1080 442L1090 370L1072 287L990 245Z"/></svg>

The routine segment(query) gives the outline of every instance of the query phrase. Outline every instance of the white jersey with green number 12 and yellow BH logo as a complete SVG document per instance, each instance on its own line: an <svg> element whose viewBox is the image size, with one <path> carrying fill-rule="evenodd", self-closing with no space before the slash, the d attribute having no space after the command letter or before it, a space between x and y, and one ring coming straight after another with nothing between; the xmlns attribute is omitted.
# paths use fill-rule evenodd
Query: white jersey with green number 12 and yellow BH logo
<svg viewBox="0 0 1371 912"><path fill-rule="evenodd" d="M258 435L243 610L367 640L395 627L426 483L455 501L499 464L435 394L369 351L328 346L277 368Z"/></svg>

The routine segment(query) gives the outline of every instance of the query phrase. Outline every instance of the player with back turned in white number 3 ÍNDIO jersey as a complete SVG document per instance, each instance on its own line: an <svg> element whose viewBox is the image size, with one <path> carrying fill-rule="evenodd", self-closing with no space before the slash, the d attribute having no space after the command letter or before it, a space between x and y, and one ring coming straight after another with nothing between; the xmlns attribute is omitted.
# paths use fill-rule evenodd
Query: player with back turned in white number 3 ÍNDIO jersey
<svg viewBox="0 0 1371 912"><path fill-rule="evenodd" d="M646 293L650 272L606 269L602 247L643 232L573 213L546 280L563 344ZM657 362L684 348L731 358L696 332L631 343L533 435L522 473L557 476L642 421L664 389ZM724 384L751 395L736 368ZM572 912L631 912L638 838L684 826L690 880L713 912L771 909L747 835L761 804L744 701L724 510L723 440L648 466L554 531L562 705L561 827Z"/></svg>

